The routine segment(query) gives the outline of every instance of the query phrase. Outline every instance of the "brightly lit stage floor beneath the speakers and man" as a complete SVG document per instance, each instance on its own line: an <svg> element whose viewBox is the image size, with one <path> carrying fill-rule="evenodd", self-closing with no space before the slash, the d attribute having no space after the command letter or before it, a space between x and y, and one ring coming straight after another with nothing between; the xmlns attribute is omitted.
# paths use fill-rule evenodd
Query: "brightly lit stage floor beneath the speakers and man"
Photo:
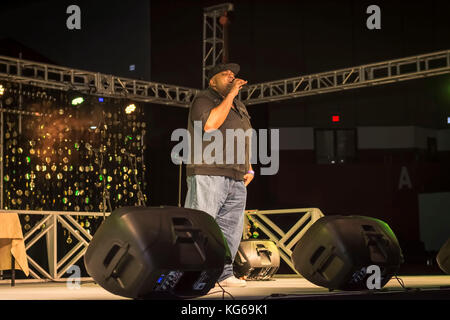
<svg viewBox="0 0 450 320"><path fill-rule="evenodd" d="M354 298L380 298L408 299L414 293L420 293L418 297L450 299L450 275L429 276L399 276L404 286L411 289L405 290L397 279L391 279L386 286L379 291L333 291L318 287L306 279L295 277L276 277L270 281L247 281L247 286L242 288L215 287L211 291L194 300L261 300L261 299L354 299ZM229 294L228 294L229 293ZM230 296L233 296L233 298ZM16 283L11 287L9 283L2 281L0 284L0 300L120 300L127 299L111 294L94 282L83 282L78 289L68 288L65 282L45 283Z"/></svg>

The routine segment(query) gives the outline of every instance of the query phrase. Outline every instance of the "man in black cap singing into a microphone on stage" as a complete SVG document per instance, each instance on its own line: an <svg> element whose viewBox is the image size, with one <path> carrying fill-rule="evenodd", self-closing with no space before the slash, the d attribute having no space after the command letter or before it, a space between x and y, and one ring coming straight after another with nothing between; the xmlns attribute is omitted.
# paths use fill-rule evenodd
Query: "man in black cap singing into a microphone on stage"
<svg viewBox="0 0 450 320"><path fill-rule="evenodd" d="M247 81L235 78L239 70L240 66L235 63L219 64L212 68L208 73L209 87L194 98L188 121L188 131L191 137L194 137L194 128L196 124L200 124L200 121L202 136L205 133L220 133L223 137L223 149L220 150L222 156L225 158L227 151L229 154L232 150L233 161L211 163L200 157L200 163L190 161L186 167L188 191L185 207L205 211L215 219L227 240L233 261L242 238L247 200L246 187L255 175L250 163L250 139L245 137L245 161L242 163L242 161L237 161L236 153L239 153L239 147L244 146L237 145L236 148L235 136L232 136L231 139L227 136L227 129L241 129L244 132L251 129L247 109L236 98L239 90L247 83ZM219 130L219 132L215 130ZM197 150L202 154L211 143L203 140L201 148L197 146ZM196 149L194 142L195 139L191 138L191 150ZM191 160L194 159L194 152L191 151ZM215 156L218 157L217 152L215 152ZM227 287L246 285L244 280L234 276L232 264L224 266L218 282L221 286Z"/></svg>

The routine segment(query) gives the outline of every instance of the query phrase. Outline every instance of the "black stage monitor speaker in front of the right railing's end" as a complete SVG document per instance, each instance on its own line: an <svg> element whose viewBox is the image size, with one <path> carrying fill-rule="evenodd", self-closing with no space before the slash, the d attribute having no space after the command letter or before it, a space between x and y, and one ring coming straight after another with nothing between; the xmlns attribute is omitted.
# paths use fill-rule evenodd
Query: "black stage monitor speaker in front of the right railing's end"
<svg viewBox="0 0 450 320"><path fill-rule="evenodd" d="M320 218L305 232L292 252L292 260L295 269L318 286L367 290L383 287L396 275L403 255L385 222L335 215Z"/></svg>

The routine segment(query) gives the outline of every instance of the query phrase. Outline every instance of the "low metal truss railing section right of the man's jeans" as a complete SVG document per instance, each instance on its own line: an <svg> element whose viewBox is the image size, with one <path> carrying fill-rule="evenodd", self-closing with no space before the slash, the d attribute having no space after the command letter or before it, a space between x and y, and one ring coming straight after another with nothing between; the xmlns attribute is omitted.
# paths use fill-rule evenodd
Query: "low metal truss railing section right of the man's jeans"
<svg viewBox="0 0 450 320"><path fill-rule="evenodd" d="M302 214L300 219L289 228L288 231L283 231L277 224L272 221L269 216L275 214ZM305 209L282 209L282 210L246 210L245 211L245 226L244 230L247 230L249 220L253 220L258 225L258 229L264 232L270 240L275 242L279 249L280 257L287 263L287 265L297 274L292 263L292 250L297 244L298 240L303 234L311 227L311 225L318 219L323 217L324 214L318 208L305 208ZM244 238L248 238L246 232L244 232Z"/></svg>

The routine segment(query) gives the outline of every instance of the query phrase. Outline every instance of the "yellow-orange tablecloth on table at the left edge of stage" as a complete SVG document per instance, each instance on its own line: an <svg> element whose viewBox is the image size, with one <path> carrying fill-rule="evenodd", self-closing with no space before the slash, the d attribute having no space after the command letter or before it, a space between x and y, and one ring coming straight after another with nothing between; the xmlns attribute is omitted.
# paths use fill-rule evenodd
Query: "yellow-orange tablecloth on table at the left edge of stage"
<svg viewBox="0 0 450 320"><path fill-rule="evenodd" d="M11 255L14 268L29 275L27 253L22 227L17 213L0 213L0 270L11 270Z"/></svg>

